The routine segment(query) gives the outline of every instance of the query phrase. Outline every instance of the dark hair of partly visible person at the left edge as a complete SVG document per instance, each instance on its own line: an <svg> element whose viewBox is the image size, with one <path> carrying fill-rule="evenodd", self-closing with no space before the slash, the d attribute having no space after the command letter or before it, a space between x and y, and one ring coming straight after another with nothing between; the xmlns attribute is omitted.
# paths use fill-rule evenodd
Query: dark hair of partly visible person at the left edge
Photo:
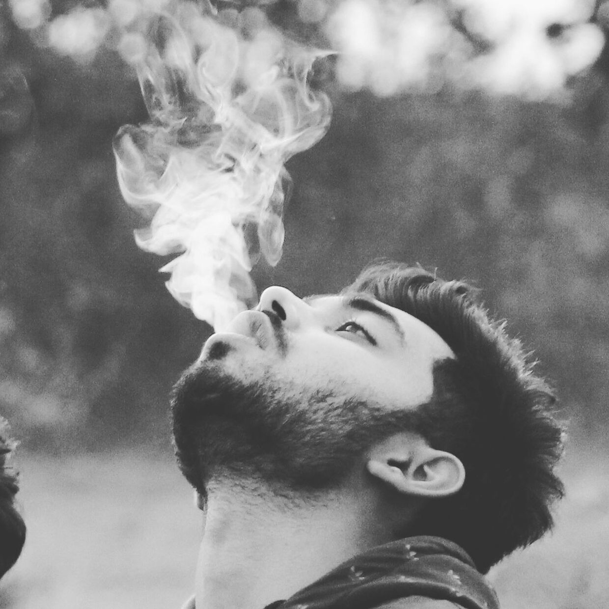
<svg viewBox="0 0 609 609"><path fill-rule="evenodd" d="M7 465L15 445L7 422L0 417L0 577L15 564L26 541L26 524L15 507L18 477Z"/></svg>

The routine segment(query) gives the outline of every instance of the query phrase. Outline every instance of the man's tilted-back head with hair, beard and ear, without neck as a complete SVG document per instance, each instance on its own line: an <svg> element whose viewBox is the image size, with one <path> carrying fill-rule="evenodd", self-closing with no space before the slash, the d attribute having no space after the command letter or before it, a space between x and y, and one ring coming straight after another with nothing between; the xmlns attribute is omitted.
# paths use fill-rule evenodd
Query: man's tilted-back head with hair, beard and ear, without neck
<svg viewBox="0 0 609 609"><path fill-rule="evenodd" d="M175 389L178 460L200 495L227 474L306 495L360 470L429 499L396 534L455 541L482 571L551 526L554 398L465 284L385 264L340 295L270 288L231 330Z"/></svg>

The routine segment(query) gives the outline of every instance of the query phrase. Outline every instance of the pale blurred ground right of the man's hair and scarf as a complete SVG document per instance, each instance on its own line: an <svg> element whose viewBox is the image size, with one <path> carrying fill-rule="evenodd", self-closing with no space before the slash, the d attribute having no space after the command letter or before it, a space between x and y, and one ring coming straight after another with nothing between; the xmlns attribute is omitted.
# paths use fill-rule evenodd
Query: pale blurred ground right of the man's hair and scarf
<svg viewBox="0 0 609 609"><path fill-rule="evenodd" d="M573 444L554 532L490 572L502 609L609 607L609 460Z"/></svg>

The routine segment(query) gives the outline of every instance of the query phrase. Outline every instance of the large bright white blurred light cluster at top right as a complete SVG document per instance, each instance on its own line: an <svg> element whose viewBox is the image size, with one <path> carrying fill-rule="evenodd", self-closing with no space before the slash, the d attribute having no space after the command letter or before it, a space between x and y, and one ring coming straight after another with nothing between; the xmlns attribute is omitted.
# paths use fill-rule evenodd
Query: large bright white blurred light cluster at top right
<svg viewBox="0 0 609 609"><path fill-rule="evenodd" d="M340 82L383 96L432 91L449 79L460 88L543 99L590 66L604 45L599 27L587 23L594 8L587 0L450 6L343 0L326 25L339 51ZM554 24L560 34L551 37Z"/></svg>

